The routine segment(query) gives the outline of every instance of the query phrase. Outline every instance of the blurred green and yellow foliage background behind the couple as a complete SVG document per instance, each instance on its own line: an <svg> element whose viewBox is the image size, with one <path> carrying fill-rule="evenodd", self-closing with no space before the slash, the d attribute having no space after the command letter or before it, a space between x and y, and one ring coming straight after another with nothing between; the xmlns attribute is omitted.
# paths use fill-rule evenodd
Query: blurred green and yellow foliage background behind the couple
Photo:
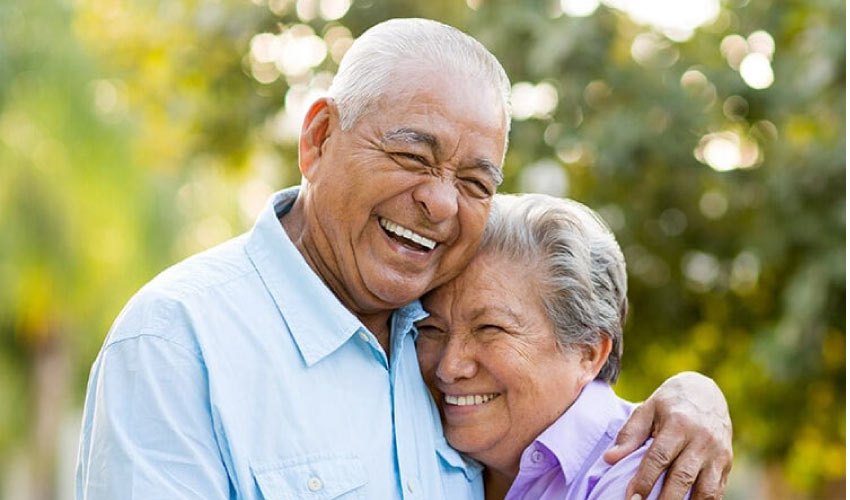
<svg viewBox="0 0 850 500"><path fill-rule="evenodd" d="M730 499L845 498L840 0L0 1L0 496L70 499L88 371L136 289L299 182L352 39L464 30L513 82L503 191L599 210L617 392L713 377Z"/></svg>

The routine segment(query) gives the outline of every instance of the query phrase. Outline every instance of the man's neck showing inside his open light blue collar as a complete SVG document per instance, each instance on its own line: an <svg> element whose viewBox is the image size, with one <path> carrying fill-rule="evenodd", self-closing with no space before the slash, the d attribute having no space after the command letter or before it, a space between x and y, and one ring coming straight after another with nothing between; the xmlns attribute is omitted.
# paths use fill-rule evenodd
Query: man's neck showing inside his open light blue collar
<svg viewBox="0 0 850 500"><path fill-rule="evenodd" d="M381 347L384 348L384 353L389 359L390 356L390 320L392 318L391 310L380 311L362 311L356 307L355 301L347 293L343 282L337 277L333 269L327 264L326 259L321 257L322 252L318 245L311 238L310 232L307 230L306 219L304 216L303 205L296 199L292 209L281 216L280 223L289 239L304 257L307 265L319 276L322 282L331 292L339 299L346 309L357 316L357 319L363 323L372 334L378 339Z"/></svg>

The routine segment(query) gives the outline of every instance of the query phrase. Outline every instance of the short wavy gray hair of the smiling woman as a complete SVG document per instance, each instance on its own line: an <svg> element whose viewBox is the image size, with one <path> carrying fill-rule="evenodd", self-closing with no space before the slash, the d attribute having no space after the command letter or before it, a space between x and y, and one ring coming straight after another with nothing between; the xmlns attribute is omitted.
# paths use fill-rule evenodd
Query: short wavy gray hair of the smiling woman
<svg viewBox="0 0 850 500"><path fill-rule="evenodd" d="M596 212L543 194L497 194L479 251L527 262L537 271L543 305L562 347L610 337L611 354L596 378L617 381L628 311L626 263Z"/></svg>

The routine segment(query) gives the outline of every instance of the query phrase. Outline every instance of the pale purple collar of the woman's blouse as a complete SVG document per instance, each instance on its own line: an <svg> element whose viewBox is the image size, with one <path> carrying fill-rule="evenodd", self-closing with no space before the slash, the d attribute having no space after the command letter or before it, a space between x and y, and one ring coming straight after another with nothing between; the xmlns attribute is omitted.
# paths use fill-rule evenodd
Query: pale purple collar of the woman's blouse
<svg viewBox="0 0 850 500"><path fill-rule="evenodd" d="M584 387L572 406L543 431L526 452L536 445L544 446L557 458L566 484L569 485L581 472L584 463L608 431L610 422L619 413L617 397L611 386L601 380L594 380Z"/></svg>

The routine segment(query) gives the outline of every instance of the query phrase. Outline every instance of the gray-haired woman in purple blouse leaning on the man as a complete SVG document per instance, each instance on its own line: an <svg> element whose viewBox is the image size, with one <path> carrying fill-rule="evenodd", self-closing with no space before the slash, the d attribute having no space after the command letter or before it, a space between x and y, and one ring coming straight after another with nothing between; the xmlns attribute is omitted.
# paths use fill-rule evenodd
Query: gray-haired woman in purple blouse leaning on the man
<svg viewBox="0 0 850 500"><path fill-rule="evenodd" d="M475 259L423 305L423 376L449 444L486 466L488 499L625 497L648 444L614 466L602 459L633 405L610 387L625 263L595 213L497 195Z"/></svg>

